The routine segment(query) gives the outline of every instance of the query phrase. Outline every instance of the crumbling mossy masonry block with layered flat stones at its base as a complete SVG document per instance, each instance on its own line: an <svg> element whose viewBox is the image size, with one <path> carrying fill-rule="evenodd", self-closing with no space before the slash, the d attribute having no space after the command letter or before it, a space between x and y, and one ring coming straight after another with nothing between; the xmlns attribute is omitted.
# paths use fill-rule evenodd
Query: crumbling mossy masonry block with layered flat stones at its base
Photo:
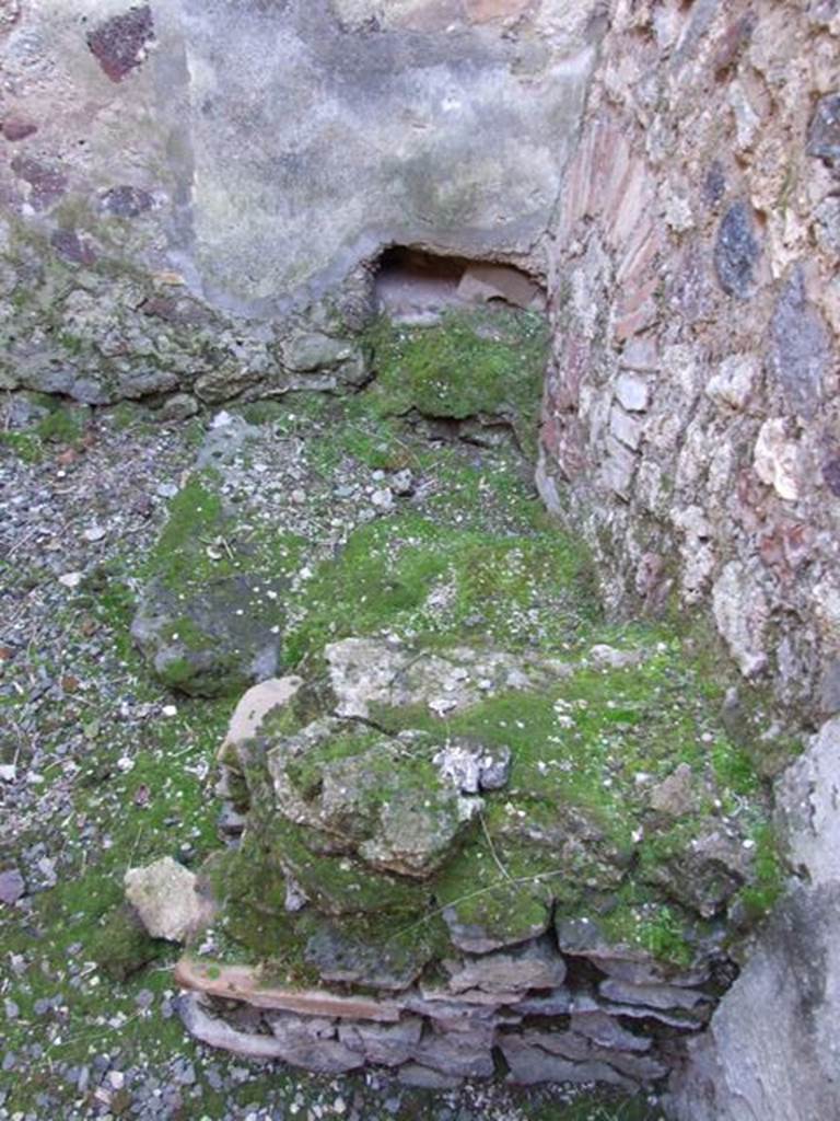
<svg viewBox="0 0 840 1121"><path fill-rule="evenodd" d="M588 665L640 658L596 647ZM250 689L220 754L231 847L199 877L216 912L176 971L188 1030L436 1088L505 1068L519 1084L663 1080L735 975L753 842L700 808L690 767L624 819L576 798L568 743L538 739L529 705L586 669L346 639L317 686ZM500 696L521 741L486 719ZM643 834L675 816L694 841L671 872L641 870Z"/></svg>

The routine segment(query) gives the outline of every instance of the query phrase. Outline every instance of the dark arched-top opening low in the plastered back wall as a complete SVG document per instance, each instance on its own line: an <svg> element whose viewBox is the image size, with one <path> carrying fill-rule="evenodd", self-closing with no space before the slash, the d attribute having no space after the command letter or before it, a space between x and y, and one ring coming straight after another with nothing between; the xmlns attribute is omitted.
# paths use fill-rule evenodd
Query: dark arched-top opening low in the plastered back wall
<svg viewBox="0 0 840 1121"><path fill-rule="evenodd" d="M435 323L450 308L503 304L545 309L545 293L513 265L442 257L393 245L379 259L374 280L376 309L402 323Z"/></svg>

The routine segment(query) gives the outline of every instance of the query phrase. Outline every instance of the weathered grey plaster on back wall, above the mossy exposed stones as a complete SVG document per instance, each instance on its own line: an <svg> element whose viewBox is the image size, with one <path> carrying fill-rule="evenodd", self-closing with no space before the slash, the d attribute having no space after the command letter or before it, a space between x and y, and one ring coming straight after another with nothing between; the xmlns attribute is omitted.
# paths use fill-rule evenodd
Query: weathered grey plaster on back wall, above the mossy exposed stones
<svg viewBox="0 0 840 1121"><path fill-rule="evenodd" d="M391 242L532 259L587 17L569 0L35 0L2 47L3 114L36 129L7 146L3 201L249 315ZM102 229L118 185L150 205Z"/></svg>

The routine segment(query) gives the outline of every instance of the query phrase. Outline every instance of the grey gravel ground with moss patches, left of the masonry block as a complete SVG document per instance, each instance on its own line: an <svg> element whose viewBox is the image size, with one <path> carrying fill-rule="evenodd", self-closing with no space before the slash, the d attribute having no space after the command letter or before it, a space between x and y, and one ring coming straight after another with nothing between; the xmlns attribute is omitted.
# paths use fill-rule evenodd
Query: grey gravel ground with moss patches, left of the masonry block
<svg viewBox="0 0 840 1121"><path fill-rule="evenodd" d="M428 1095L380 1074L319 1080L236 1060L184 1035L175 951L125 979L102 965L125 868L166 853L197 865L220 843L212 760L230 703L166 693L128 638L144 558L197 451L253 517L306 538L298 584L401 489L418 502L445 485L393 430L358 421L357 454L339 451L335 419L319 411L290 407L245 451L236 421L164 427L121 409L54 423L22 399L3 405L0 1119L659 1118L655 1103L563 1087ZM395 441L400 462L377 465ZM513 470L504 451L448 454ZM482 516L505 531L503 502Z"/></svg>

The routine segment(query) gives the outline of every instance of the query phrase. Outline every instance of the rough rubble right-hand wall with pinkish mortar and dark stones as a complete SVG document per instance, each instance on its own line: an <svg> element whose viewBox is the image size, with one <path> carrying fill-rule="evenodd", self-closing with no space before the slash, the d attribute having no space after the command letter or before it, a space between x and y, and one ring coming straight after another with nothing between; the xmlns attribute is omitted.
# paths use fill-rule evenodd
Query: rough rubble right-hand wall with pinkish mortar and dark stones
<svg viewBox="0 0 840 1121"><path fill-rule="evenodd" d="M612 6L551 252L540 485L619 610L840 706L840 9Z"/></svg>

